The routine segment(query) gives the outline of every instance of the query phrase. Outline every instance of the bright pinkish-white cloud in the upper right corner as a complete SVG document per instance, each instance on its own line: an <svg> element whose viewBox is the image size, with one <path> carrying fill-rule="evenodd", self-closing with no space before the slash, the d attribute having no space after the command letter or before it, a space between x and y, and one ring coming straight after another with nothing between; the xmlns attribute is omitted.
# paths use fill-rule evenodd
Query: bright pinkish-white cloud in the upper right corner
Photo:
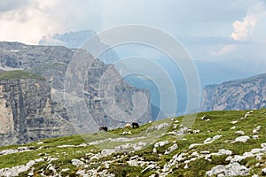
<svg viewBox="0 0 266 177"><path fill-rule="evenodd" d="M246 38L252 34L254 27L257 23L266 17L265 4L262 1L257 1L252 4L246 14L246 17L242 20L236 20L232 26L234 32L231 34L231 38L235 41L246 40Z"/></svg>

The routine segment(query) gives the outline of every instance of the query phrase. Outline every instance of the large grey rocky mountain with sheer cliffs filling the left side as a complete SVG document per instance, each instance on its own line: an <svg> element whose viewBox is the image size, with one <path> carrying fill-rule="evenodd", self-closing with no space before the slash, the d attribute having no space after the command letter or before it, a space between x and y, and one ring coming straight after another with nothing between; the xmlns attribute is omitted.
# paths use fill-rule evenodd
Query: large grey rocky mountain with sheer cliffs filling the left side
<svg viewBox="0 0 266 177"><path fill-rule="evenodd" d="M81 63L82 66L78 67L75 65L77 61L90 61L91 65ZM12 130L15 127L11 131L14 136L9 137L10 141L7 138L4 144L74 134L73 127L75 133L86 133L98 131L101 126L114 128L131 121L143 124L153 119L149 101L143 106L133 99L137 93L142 93L149 100L148 90L130 86L121 79L113 65L105 65L84 50L0 42L0 69L3 70L0 73L0 81L3 80L0 93L4 99L0 109L6 109L4 103L12 105L6 111L9 114L1 114L1 119L12 123L6 124L7 127L1 126L4 135L0 135L0 139L7 137L6 128ZM106 81L102 81L104 74L108 76ZM30 78L37 81L27 80ZM48 100L47 104L45 100ZM49 105L50 113L43 114L44 105ZM139 107L142 111L140 115L136 114ZM61 132L51 133L60 127L58 124L61 120L66 122L66 127L68 124L72 127L68 128L69 132L61 128ZM38 124L43 127L37 128ZM45 128L51 131L45 132ZM23 140L13 138L19 136Z"/></svg>

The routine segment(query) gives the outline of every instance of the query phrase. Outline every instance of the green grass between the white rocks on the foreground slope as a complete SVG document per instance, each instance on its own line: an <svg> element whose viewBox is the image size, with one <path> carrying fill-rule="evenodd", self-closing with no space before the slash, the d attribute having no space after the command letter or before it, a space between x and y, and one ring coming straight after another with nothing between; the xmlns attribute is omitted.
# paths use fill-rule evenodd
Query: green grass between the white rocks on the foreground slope
<svg viewBox="0 0 266 177"><path fill-rule="evenodd" d="M162 148L159 148L159 153L164 152L168 149L169 146L173 144L173 142L176 142L178 144L178 149L173 151L169 155L162 155L158 156L156 154L153 154L153 145L146 147L143 150L139 150L136 152L129 153L125 158L122 158L116 163L113 163L113 165L110 165L109 172L115 173L117 176L122 176L127 174L128 176L149 176L153 174L153 171L147 171L145 173L141 174L141 171L144 168L141 168L139 166L129 166L127 164L127 161L129 160L129 157L133 157L135 155L138 155L140 157L145 158L145 160L148 161L155 161L157 162L160 167L165 165L176 153L186 152L186 153L192 153L192 150L189 150L189 146L192 143L201 143L204 142L208 137L213 137L215 135L222 135L222 137L215 142L211 144L201 145L194 148L193 151L202 151L202 150L209 150L210 152L217 152L220 149L226 149L226 150L232 150L234 155L243 155L244 152L250 151L254 148L260 148L262 142L266 142L266 110L259 110L254 111L251 113L247 119L240 119L246 114L247 111L222 111L222 112L201 112L197 115L197 119L192 127L192 129L200 129L200 134L188 134L184 137L176 137L173 135L163 135L160 137L159 141L168 140L170 143ZM200 118L202 116L206 115L207 118L209 118L209 121L201 120ZM182 121L183 117L176 118ZM175 120L176 120L175 119ZM231 121L239 119L239 122L236 125L232 125ZM71 165L71 159L73 158L86 158L86 153L97 153L100 151L100 148L112 148L114 146L120 145L122 142L104 142L103 144L100 144L102 146L87 146L87 147L74 147L74 148L64 148L59 149L57 148L58 145L62 144L74 144L78 145L84 142L92 142L95 140L104 140L109 137L134 137L134 136L143 136L143 135L153 135L155 137L155 134L160 135L161 132L159 131L147 131L149 127L154 127L155 125L159 125L161 122L174 122L170 119L164 119L160 121L156 121L153 124L147 124L143 125L140 128L137 129L131 129L132 135L125 136L121 135L123 131L125 131L123 128L118 128L115 130L111 130L110 133L97 133L97 134L90 134L85 135L85 140L80 135L73 135L68 137L59 137L55 139L47 139L43 140L43 144L37 144L37 142L28 143L25 146L32 146L34 151L28 151L28 152L22 152L22 153L16 153L16 154L10 154L10 155L4 155L0 156L0 169L4 167L11 167L14 165L23 165L26 164L29 160L33 160L36 158L43 158L44 156L51 156L54 158L59 158L56 161L53 161L52 164L55 165L58 169L63 168L70 168L70 171L67 172L69 175L74 175L74 173L78 170L78 167L75 167L74 165ZM176 123L177 125L180 125L180 123ZM168 131L173 130L173 126L171 126ZM236 126L236 129L231 129L231 127ZM251 138L248 142L236 142L236 143L229 143L233 141L236 137L239 135L236 135L236 131L244 131L245 135L252 136L252 130L254 127L262 126L262 130L259 132L259 139L253 139ZM83 136L84 137L84 136ZM147 141L151 140L151 136L147 138L146 140L141 141ZM134 142L134 141L133 141ZM137 140L135 141L137 142ZM123 142L128 143L128 142ZM43 149L38 149L39 147L43 146ZM7 146L7 147L0 147L1 150L6 149L14 149L20 146ZM123 154L123 153L121 153ZM117 154L119 155L119 154ZM114 155L113 155L114 156ZM205 173L210 170L215 165L226 165L228 162L225 161L225 156L220 157L212 157L212 161L208 162L207 160L200 158L198 160L192 161L189 163L189 168L184 169L184 166L180 165L178 167L173 168L173 173L169 174L168 176L204 176ZM110 160L112 157L106 157L99 159L97 162L90 164L87 169L91 168L98 168L98 166L101 166L101 161ZM243 160L241 162L241 165L247 165L248 167L251 167L251 174L254 173L261 173L263 166L255 166L258 162L266 162L266 155L262 157L262 160L256 160L254 158L248 158L246 160ZM35 165L35 171L38 171L38 169L45 169L47 166L47 162L45 163L38 163ZM264 167L266 167L264 165ZM102 166L103 168L103 166ZM47 174L50 173L47 171ZM27 173L22 173L21 175L25 175ZM65 173L66 174L66 173ZM38 174L36 173L36 176Z"/></svg>

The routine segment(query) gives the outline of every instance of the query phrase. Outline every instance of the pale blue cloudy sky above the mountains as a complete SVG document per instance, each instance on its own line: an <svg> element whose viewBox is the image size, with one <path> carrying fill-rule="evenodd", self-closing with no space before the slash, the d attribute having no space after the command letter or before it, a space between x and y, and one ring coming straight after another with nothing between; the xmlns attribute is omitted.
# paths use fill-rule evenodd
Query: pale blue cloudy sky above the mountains
<svg viewBox="0 0 266 177"><path fill-rule="evenodd" d="M0 41L126 24L158 27L192 58L266 72L266 0L1 0Z"/></svg>

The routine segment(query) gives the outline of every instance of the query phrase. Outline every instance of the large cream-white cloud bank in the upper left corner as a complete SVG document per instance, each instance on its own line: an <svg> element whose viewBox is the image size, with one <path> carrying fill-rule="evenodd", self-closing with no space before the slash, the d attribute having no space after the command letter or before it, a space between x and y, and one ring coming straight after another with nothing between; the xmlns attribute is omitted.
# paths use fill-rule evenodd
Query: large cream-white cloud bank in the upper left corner
<svg viewBox="0 0 266 177"><path fill-rule="evenodd" d="M37 44L43 35L97 27L99 18L95 0L27 0L16 8L5 4L0 41Z"/></svg>

